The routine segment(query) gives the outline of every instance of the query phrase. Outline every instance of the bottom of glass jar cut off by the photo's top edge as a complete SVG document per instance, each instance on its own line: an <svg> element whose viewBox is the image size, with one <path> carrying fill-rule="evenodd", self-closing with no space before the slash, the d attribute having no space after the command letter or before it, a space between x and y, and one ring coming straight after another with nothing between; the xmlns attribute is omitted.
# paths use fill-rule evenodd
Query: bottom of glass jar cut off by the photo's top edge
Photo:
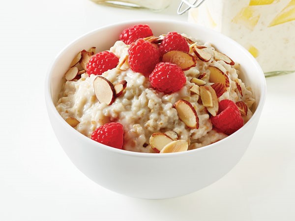
<svg viewBox="0 0 295 221"><path fill-rule="evenodd" d="M161 11L169 6L171 0L92 0L96 3L111 4L128 8L148 8L153 11Z"/></svg>

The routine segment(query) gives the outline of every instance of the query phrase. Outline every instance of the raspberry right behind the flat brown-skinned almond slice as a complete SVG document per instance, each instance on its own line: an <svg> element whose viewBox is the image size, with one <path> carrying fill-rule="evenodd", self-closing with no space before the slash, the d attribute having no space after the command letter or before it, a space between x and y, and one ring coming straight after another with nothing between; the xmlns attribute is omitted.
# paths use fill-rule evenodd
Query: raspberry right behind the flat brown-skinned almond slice
<svg viewBox="0 0 295 221"><path fill-rule="evenodd" d="M160 55L163 56L166 52L170 51L183 51L189 52L187 41L181 34L177 32L169 32L160 44Z"/></svg>

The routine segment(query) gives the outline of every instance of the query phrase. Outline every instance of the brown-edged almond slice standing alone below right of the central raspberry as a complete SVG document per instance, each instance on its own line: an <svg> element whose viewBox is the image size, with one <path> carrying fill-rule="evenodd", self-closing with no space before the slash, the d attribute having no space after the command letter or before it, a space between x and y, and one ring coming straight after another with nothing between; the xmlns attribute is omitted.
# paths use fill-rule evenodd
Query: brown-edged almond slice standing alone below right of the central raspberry
<svg viewBox="0 0 295 221"><path fill-rule="evenodd" d="M194 109L190 102L180 99L174 104L173 107L177 110L177 115L179 119L188 128L199 128L199 117L197 115L197 111Z"/></svg>

